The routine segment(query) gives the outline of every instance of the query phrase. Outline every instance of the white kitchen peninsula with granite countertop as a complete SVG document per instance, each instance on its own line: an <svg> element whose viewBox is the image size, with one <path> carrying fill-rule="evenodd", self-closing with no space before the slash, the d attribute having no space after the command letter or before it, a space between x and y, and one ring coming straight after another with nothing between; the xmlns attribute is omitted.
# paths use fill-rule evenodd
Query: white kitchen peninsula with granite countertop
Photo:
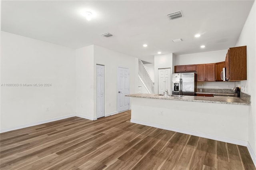
<svg viewBox="0 0 256 170"><path fill-rule="evenodd" d="M246 146L247 101L239 97L130 94L131 122Z"/></svg>

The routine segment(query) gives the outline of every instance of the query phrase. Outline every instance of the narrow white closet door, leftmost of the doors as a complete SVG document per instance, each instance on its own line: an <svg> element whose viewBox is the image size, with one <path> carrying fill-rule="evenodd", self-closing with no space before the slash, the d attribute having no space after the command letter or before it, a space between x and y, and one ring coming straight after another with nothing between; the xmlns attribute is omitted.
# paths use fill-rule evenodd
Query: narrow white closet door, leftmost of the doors
<svg viewBox="0 0 256 170"><path fill-rule="evenodd" d="M105 66L97 64L96 117L105 116Z"/></svg>

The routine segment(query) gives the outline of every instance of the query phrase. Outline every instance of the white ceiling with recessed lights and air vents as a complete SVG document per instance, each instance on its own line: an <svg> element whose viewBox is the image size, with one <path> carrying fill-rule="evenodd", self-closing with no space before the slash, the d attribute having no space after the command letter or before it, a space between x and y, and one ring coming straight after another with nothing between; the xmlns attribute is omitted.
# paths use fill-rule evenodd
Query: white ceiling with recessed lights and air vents
<svg viewBox="0 0 256 170"><path fill-rule="evenodd" d="M153 63L158 51L179 55L233 47L253 2L2 0L1 30L74 49L95 44ZM96 16L87 21L82 9ZM179 10L182 18L168 19ZM102 37L106 32L113 36ZM183 42L172 42L179 38Z"/></svg>

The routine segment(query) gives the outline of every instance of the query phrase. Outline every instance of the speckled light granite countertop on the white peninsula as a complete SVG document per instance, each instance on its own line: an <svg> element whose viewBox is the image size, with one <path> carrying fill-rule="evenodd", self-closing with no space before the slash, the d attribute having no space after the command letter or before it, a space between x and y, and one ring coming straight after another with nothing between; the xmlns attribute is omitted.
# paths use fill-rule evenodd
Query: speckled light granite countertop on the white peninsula
<svg viewBox="0 0 256 170"><path fill-rule="evenodd" d="M194 102L206 102L206 103L222 103L222 104L233 104L233 105L250 105L247 101L240 99L239 97L227 97L227 96L214 96L214 97L203 97L203 96L160 96L157 94L146 94L137 93L126 95L127 97L140 97L148 99L164 99L164 100L178 100L178 101L194 101Z"/></svg>

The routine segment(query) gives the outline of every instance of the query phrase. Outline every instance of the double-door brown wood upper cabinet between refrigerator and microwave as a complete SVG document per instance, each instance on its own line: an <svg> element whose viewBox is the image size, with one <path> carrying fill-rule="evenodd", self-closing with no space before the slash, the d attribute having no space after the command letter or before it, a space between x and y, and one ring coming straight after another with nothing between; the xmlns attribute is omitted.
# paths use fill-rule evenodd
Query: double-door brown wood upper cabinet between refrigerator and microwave
<svg viewBox="0 0 256 170"><path fill-rule="evenodd" d="M215 63L198 64L197 81L215 81Z"/></svg>

